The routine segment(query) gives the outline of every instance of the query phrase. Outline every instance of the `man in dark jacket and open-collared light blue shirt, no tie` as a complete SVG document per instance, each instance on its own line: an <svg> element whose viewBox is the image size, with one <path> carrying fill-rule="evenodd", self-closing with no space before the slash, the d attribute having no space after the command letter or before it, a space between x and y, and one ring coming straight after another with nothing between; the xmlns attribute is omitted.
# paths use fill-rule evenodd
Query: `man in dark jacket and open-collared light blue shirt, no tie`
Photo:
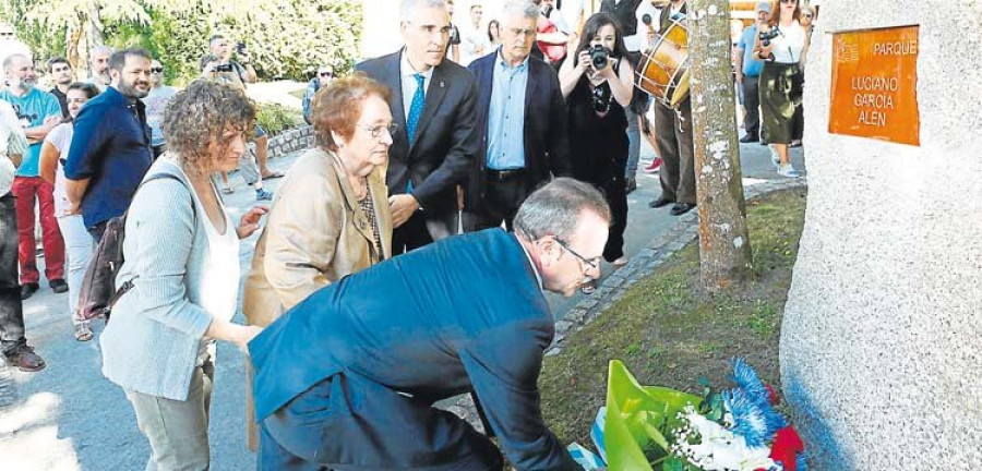
<svg viewBox="0 0 982 471"><path fill-rule="evenodd" d="M470 63L478 82L481 152L465 192L477 229L508 230L518 206L552 174L568 176L566 110L555 70L529 57L539 10L527 0L506 3L501 47Z"/></svg>

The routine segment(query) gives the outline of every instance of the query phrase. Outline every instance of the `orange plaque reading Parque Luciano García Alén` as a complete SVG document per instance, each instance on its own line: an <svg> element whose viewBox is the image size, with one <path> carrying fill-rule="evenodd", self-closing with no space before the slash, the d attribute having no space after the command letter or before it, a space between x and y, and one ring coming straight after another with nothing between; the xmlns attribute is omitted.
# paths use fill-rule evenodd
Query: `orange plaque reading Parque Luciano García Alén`
<svg viewBox="0 0 982 471"><path fill-rule="evenodd" d="M828 132L921 145L918 26L833 36Z"/></svg>

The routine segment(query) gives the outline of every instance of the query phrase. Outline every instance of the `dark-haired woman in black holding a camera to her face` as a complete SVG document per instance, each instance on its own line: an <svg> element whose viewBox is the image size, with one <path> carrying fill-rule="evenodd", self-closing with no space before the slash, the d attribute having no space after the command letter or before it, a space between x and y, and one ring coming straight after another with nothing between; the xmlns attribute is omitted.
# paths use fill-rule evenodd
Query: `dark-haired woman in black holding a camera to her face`
<svg viewBox="0 0 982 471"><path fill-rule="evenodd" d="M560 70L560 85L570 116L573 176L601 190L613 215L603 257L614 266L627 264L627 114L634 94L634 72L615 16L597 13L583 26L576 52ZM595 283L584 285L585 293Z"/></svg>

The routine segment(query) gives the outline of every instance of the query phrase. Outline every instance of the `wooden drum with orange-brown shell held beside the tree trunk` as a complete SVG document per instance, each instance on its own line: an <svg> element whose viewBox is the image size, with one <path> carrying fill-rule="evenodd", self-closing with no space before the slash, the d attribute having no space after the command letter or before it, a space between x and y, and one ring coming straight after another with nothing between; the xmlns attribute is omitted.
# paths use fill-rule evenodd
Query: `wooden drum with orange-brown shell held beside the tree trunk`
<svg viewBox="0 0 982 471"><path fill-rule="evenodd" d="M688 97L688 28L672 21L655 45L642 52L634 86L669 108Z"/></svg>

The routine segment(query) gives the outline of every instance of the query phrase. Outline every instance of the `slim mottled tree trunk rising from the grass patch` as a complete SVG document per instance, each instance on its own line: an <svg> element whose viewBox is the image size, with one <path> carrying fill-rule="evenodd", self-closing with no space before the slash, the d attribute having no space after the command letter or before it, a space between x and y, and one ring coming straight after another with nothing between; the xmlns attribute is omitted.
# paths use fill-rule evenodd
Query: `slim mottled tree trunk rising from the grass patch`
<svg viewBox="0 0 982 471"><path fill-rule="evenodd" d="M690 0L688 27L699 265L703 286L717 292L753 275L730 75L728 0Z"/></svg>

